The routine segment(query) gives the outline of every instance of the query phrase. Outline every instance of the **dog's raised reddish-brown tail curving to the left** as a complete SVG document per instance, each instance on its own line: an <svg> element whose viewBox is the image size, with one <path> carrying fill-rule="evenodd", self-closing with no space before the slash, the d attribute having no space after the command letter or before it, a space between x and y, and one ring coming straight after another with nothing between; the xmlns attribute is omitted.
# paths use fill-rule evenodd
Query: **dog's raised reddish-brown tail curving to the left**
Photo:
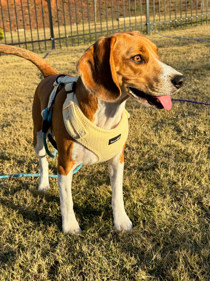
<svg viewBox="0 0 210 281"><path fill-rule="evenodd" d="M57 74L56 71L41 56L29 50L10 45L0 44L0 52L28 59L38 67L44 77L47 77L52 74Z"/></svg>

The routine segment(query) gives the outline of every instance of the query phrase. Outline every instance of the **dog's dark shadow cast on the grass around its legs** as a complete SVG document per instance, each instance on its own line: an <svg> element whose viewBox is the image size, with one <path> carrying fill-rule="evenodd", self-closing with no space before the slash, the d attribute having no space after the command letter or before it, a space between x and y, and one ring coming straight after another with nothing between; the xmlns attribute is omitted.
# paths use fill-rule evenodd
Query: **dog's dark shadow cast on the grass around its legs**
<svg viewBox="0 0 210 281"><path fill-rule="evenodd" d="M100 176L101 180L96 180L95 174L90 176L89 181L91 181L93 186L100 186L106 181L107 175L105 171L102 172ZM14 184L10 185L11 181L13 181ZM24 220L35 222L37 225L44 224L51 226L56 224L60 231L62 231L61 213L60 209L58 211L57 208L57 206L60 205L60 198L57 193L53 193L53 189L49 190L46 194L40 193L37 188L31 188L30 178L25 180L23 177L6 179L6 182L1 182L0 188L4 188L4 194L0 199L0 203L3 206L10 210L17 211ZM102 200L100 198L101 196L98 198L95 196L94 188L92 189L93 192L84 190L80 191L80 194L76 196L75 193L77 193L79 189L78 185L73 187L74 212L85 229L90 228L96 223L102 213L104 220L110 219L110 215L112 215L110 208L111 197L107 197L106 200L104 198ZM24 193L24 196L26 196L24 190L30 192L29 197L31 198L21 198L21 193ZM18 198L15 200L17 203L14 203L15 196ZM83 199L83 197L85 197L85 199ZM27 202L29 200L33 201L30 205ZM18 203L18 201L21 203ZM23 201L27 202L26 205L23 204ZM56 210L54 209L53 215L51 214L52 211L50 211L52 208L56 208Z"/></svg>

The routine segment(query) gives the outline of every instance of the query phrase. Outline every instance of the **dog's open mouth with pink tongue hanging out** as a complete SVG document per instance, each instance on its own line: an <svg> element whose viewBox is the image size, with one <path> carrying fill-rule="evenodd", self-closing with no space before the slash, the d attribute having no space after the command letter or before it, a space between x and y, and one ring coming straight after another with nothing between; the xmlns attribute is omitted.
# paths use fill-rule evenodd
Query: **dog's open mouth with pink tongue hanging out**
<svg viewBox="0 0 210 281"><path fill-rule="evenodd" d="M138 101L146 101L148 105L158 108L158 109L171 109L171 97L170 95L154 97L140 91L136 88L129 87L129 93Z"/></svg>

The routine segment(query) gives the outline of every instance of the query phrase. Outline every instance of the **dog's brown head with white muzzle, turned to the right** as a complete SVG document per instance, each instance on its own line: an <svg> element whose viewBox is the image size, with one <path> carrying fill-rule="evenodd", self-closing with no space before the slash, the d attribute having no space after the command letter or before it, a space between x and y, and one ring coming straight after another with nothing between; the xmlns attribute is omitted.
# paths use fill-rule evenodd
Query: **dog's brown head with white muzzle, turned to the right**
<svg viewBox="0 0 210 281"><path fill-rule="evenodd" d="M78 61L85 87L113 102L121 92L146 106L171 108L171 98L185 77L160 61L157 47L138 31L101 37Z"/></svg>

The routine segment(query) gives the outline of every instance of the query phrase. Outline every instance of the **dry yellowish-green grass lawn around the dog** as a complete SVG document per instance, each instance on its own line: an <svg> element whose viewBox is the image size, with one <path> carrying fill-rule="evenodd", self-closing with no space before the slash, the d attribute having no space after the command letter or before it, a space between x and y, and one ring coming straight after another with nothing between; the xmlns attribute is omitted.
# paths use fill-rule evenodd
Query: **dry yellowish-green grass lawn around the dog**
<svg viewBox="0 0 210 281"><path fill-rule="evenodd" d="M210 26L170 35L210 40ZM169 32L164 32L169 35ZM173 98L210 101L210 44L152 34L166 64L186 76ZM76 75L86 46L55 49L47 61ZM44 54L41 54L44 56ZM31 107L39 70L0 56L0 174L39 173ZM62 233L57 180L47 194L38 178L0 180L0 280L166 280L210 278L210 107L172 102L151 110L132 99L125 148L124 201L134 229L113 229L107 163L74 176L74 211L81 235ZM56 159L49 159L56 174Z"/></svg>

